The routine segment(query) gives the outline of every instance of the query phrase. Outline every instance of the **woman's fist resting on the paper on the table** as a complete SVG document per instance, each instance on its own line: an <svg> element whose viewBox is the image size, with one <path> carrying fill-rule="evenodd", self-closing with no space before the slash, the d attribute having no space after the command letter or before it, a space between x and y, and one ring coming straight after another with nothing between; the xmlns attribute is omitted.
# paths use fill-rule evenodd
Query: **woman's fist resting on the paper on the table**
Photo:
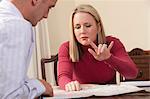
<svg viewBox="0 0 150 99"><path fill-rule="evenodd" d="M81 90L80 83L78 81L71 81L65 85L66 91L79 91Z"/></svg>

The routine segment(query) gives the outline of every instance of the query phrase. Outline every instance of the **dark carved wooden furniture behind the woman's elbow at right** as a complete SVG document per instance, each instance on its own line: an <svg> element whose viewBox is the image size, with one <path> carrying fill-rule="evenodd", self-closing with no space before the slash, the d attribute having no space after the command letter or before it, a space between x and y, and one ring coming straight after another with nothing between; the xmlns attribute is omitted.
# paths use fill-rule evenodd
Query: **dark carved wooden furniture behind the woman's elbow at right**
<svg viewBox="0 0 150 99"><path fill-rule="evenodd" d="M137 78L133 80L150 80L150 50L135 48L128 54L139 69Z"/></svg>

